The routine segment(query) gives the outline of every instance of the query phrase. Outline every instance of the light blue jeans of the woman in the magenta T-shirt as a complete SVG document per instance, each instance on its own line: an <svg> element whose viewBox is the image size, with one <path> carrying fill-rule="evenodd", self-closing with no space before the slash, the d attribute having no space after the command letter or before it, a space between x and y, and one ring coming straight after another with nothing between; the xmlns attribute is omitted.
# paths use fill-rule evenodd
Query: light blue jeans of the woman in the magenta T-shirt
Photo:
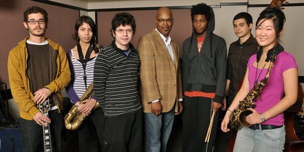
<svg viewBox="0 0 304 152"><path fill-rule="evenodd" d="M278 152L284 150L285 125L277 129L252 130L243 127L237 132L234 152Z"/></svg>

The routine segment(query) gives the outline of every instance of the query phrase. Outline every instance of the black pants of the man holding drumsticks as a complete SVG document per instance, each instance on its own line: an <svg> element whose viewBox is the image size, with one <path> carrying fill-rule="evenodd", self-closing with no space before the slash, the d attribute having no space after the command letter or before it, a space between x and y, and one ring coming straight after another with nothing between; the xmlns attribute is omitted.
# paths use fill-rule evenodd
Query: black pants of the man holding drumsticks
<svg viewBox="0 0 304 152"><path fill-rule="evenodd" d="M215 115L210 140L205 142L212 112L213 99L205 97L185 97L182 113L182 151L213 151L217 134L219 112Z"/></svg>

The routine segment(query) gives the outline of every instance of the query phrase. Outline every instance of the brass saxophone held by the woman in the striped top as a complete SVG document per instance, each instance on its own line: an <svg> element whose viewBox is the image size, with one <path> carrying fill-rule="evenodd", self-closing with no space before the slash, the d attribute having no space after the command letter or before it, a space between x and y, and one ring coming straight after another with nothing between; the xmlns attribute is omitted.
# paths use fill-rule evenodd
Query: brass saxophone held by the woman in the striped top
<svg viewBox="0 0 304 152"><path fill-rule="evenodd" d="M85 90L85 93L83 94L83 96L80 98L80 101L84 101L86 99L91 99L93 94L94 94L94 91L93 91L93 81L92 81L92 83L89 85L87 90ZM95 105L95 107L93 107L92 111L94 111L98 108L100 108L100 105L98 102L96 102L96 105ZM85 114L79 112L76 105L73 105L72 109L69 110L69 113L65 116L65 127L72 131L76 130L76 129L78 129L78 127L80 127L81 124L83 124L83 121L85 121L85 118L87 118L87 116L85 116Z"/></svg>

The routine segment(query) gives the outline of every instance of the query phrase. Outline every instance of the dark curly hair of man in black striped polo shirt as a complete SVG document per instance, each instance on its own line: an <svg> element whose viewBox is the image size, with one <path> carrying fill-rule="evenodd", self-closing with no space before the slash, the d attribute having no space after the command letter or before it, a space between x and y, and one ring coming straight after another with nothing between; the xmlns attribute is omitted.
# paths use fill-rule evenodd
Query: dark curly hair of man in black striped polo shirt
<svg viewBox="0 0 304 152"><path fill-rule="evenodd" d="M116 14L111 22L112 28L110 29L111 36L113 36L113 32L115 31L117 27L120 25L125 26L125 25L131 25L133 29L133 34L135 34L136 31L136 24L135 24L135 19L132 14L128 12L120 12ZM115 39L115 38L114 38Z"/></svg>

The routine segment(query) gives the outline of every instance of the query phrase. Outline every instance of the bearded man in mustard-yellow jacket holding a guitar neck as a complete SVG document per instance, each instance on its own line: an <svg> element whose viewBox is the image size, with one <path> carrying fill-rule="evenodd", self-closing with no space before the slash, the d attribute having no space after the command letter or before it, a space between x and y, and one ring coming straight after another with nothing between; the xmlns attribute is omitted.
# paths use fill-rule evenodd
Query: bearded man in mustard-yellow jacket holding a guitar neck
<svg viewBox="0 0 304 152"><path fill-rule="evenodd" d="M37 6L23 13L23 25L30 37L19 42L8 57L8 75L12 96L20 109L23 151L39 151L43 125L50 123L52 151L61 151L63 130L63 97L61 90L69 84L69 64L63 48L45 38L47 12ZM50 110L45 116L36 107L50 97ZM51 123L52 120L52 123ZM50 147L50 148L51 148ZM45 147L47 148L47 147Z"/></svg>

